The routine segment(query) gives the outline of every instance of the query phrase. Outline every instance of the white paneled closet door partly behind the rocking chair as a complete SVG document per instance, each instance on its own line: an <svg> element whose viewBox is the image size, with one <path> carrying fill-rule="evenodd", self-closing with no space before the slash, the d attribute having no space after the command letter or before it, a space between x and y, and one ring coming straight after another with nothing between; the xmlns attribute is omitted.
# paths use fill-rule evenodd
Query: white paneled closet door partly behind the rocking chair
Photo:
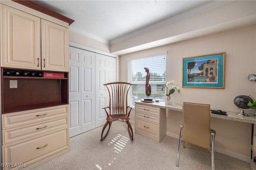
<svg viewBox="0 0 256 170"><path fill-rule="evenodd" d="M108 90L103 84L108 82L116 81L116 58L109 57L106 55L97 54L95 55L96 65L96 127L104 125L106 123L106 113L102 107L106 107L109 104Z"/></svg>

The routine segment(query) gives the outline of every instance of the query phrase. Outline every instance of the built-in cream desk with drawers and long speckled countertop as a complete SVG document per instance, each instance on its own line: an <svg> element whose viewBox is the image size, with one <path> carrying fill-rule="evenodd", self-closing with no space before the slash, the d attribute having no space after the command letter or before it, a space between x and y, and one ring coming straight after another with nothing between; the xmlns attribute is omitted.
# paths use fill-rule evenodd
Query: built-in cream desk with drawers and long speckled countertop
<svg viewBox="0 0 256 170"><path fill-rule="evenodd" d="M144 137L148 137L160 142L166 135L166 109L183 111L182 104L165 104L164 102L142 102L140 100L135 102L135 133ZM217 109L213 109L217 110ZM223 110L226 111L226 110ZM220 119L227 119L231 121L240 121L244 123L254 124L254 134L252 150L253 156L256 156L256 117L253 113L246 113L250 115L239 116L238 112L226 111L227 115L217 115L210 113L211 117ZM154 119L153 119L154 118ZM251 169L256 170L256 164L250 161Z"/></svg>

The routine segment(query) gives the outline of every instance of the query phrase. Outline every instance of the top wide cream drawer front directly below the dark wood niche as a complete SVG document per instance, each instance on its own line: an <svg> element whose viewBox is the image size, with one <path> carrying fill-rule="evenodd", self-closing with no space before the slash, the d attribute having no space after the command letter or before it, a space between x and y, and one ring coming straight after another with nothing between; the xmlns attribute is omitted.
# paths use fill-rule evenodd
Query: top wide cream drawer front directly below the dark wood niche
<svg viewBox="0 0 256 170"><path fill-rule="evenodd" d="M68 105L20 111L2 115L2 129L68 116Z"/></svg>

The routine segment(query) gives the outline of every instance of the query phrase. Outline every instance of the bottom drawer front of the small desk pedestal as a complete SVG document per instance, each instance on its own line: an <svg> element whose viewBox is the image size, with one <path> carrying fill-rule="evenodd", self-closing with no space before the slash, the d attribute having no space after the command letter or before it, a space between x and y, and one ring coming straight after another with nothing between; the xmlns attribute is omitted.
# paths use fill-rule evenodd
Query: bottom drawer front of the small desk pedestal
<svg viewBox="0 0 256 170"><path fill-rule="evenodd" d="M143 121L141 119L136 118L136 130L143 131L145 133L149 133L156 137L159 136L159 125L157 123L151 123L148 121Z"/></svg>

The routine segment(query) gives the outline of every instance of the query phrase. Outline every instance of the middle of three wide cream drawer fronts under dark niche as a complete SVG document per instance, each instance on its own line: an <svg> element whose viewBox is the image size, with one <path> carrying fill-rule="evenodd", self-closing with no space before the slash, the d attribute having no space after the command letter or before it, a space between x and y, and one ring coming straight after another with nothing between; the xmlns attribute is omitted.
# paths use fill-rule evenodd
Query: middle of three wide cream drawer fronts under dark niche
<svg viewBox="0 0 256 170"><path fill-rule="evenodd" d="M3 145L68 126L68 116L3 130Z"/></svg>

